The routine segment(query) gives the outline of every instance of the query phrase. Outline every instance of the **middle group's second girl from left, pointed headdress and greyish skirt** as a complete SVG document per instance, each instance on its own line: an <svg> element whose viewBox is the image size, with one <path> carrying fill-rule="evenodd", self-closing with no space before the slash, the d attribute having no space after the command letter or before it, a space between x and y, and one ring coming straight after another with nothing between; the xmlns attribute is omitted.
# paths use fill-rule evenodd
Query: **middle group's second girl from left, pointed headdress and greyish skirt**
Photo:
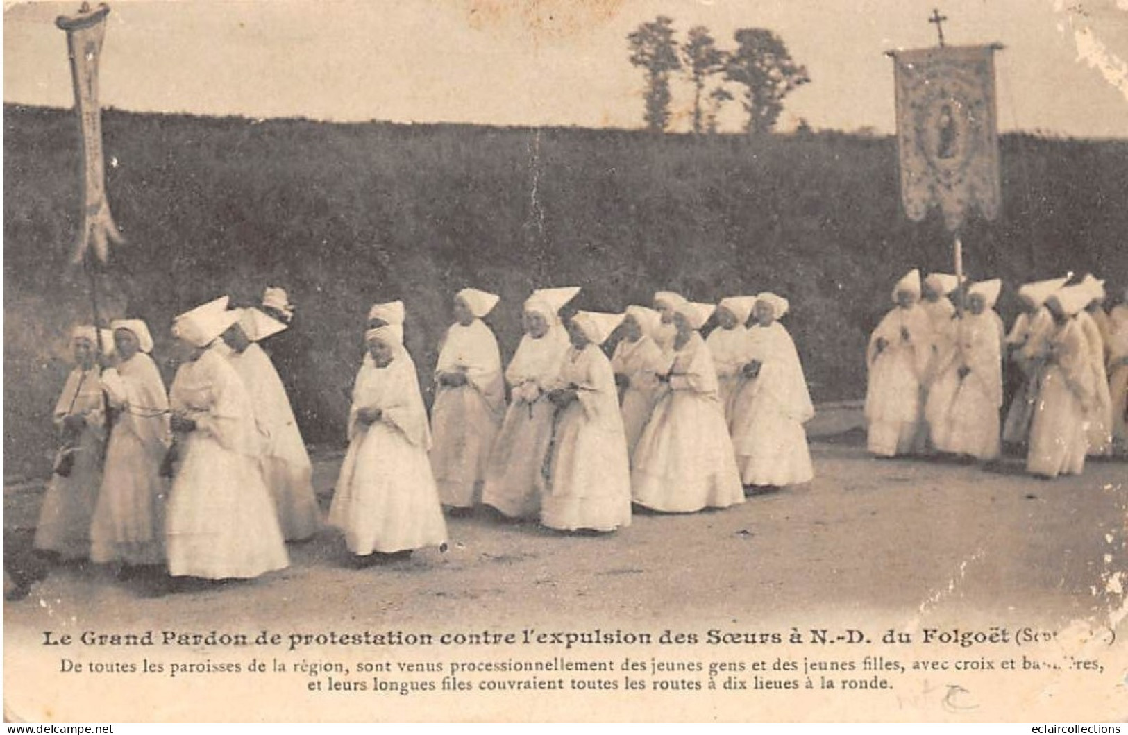
<svg viewBox="0 0 1128 735"><path fill-rule="evenodd" d="M558 312L579 292L578 287L539 289L525 302L526 334L505 369L509 410L482 489L482 502L510 519L535 519L540 513L555 414L546 392L556 387L569 348Z"/></svg>

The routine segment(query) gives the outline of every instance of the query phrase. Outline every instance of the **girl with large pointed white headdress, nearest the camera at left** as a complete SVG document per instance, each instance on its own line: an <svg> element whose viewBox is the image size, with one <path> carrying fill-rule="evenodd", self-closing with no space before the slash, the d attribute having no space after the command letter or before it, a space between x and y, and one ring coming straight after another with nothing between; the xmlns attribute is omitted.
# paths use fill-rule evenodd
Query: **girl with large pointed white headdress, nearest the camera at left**
<svg viewBox="0 0 1128 735"><path fill-rule="evenodd" d="M174 577L249 578L290 564L259 469L255 409L221 354L219 336L238 318L222 298L173 324L187 353L169 390L179 458L165 521Z"/></svg>

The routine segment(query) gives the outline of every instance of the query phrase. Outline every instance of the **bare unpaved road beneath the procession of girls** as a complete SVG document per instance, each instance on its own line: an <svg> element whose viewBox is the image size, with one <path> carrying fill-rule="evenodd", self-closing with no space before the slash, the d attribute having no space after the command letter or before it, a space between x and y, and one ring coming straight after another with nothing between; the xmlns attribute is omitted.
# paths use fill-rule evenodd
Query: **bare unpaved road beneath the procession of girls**
<svg viewBox="0 0 1128 735"><path fill-rule="evenodd" d="M1019 460L984 469L867 457L856 434L812 443L817 479L725 511L636 515L602 537L479 514L449 521L450 549L353 569L325 530L291 567L250 583L143 599L97 568L62 568L5 605L12 650L44 630L319 631L915 627L1107 620L1128 569L1128 464L1091 462L1045 481ZM328 501L337 461L318 461ZM6 498L9 535L37 494Z"/></svg>

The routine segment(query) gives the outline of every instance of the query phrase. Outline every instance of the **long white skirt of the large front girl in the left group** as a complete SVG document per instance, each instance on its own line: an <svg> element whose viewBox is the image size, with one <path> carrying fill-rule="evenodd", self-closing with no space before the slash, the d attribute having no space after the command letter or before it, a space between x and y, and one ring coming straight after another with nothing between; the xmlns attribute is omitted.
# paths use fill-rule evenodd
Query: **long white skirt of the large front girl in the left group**
<svg viewBox="0 0 1128 735"><path fill-rule="evenodd" d="M248 578L289 566L258 459L197 432L183 440L182 450L165 521L168 573Z"/></svg>

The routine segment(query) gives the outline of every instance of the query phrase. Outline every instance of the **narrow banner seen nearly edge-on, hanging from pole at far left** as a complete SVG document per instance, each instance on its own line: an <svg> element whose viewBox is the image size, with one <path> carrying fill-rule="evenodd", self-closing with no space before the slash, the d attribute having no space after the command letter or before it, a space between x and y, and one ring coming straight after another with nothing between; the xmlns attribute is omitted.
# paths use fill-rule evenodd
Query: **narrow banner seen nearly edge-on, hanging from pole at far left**
<svg viewBox="0 0 1128 735"><path fill-rule="evenodd" d="M77 16L60 16L55 19L55 25L67 32L71 79L74 82L74 112L78 113L81 129L82 191L74 263L80 263L91 246L98 259L105 262L109 255L109 242L122 241L106 198L102 107L98 103L98 56L106 34L107 15L109 8L106 5L91 11L83 3Z"/></svg>

